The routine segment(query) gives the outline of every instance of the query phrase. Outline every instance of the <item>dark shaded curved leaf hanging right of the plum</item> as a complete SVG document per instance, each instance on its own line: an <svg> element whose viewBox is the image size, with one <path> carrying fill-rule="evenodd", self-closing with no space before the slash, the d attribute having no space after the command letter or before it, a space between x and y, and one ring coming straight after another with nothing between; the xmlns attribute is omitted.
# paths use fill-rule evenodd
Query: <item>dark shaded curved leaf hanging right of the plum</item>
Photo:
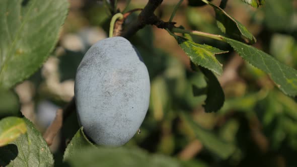
<svg viewBox="0 0 297 167"><path fill-rule="evenodd" d="M216 76L208 69L200 67L207 83L206 100L203 105L206 113L217 112L225 102L225 94Z"/></svg>

